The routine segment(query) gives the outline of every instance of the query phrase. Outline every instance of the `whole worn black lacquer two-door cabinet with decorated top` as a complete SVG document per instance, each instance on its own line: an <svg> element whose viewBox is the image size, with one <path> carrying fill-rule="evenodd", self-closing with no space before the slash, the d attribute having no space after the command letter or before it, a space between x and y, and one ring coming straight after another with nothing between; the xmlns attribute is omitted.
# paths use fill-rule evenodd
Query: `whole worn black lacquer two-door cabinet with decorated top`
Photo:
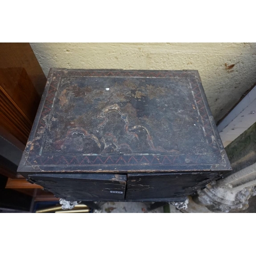
<svg viewBox="0 0 256 256"><path fill-rule="evenodd" d="M18 167L69 201L181 201L230 170L193 70L51 69Z"/></svg>

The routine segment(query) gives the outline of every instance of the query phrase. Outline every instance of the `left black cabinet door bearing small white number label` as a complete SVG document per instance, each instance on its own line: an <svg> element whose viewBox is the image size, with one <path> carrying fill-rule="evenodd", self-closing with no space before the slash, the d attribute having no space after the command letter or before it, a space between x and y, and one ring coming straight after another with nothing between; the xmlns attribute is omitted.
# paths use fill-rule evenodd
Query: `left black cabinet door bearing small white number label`
<svg viewBox="0 0 256 256"><path fill-rule="evenodd" d="M68 201L123 200L126 175L34 174L28 180Z"/></svg>

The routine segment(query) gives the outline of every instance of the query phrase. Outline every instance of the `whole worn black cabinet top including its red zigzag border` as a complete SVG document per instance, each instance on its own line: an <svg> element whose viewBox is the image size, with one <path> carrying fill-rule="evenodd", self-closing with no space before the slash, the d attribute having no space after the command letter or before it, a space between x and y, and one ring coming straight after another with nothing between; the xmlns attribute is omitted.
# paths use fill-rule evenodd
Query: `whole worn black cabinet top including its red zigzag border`
<svg viewBox="0 0 256 256"><path fill-rule="evenodd" d="M51 69L18 171L230 169L198 71Z"/></svg>

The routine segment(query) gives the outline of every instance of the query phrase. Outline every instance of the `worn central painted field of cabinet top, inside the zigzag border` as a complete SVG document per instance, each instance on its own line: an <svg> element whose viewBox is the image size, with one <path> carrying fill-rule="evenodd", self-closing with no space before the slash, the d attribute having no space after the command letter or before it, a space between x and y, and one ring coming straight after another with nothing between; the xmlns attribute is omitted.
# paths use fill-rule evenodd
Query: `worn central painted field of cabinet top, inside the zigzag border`
<svg viewBox="0 0 256 256"><path fill-rule="evenodd" d="M210 153L206 143L185 79L63 77L42 153Z"/></svg>

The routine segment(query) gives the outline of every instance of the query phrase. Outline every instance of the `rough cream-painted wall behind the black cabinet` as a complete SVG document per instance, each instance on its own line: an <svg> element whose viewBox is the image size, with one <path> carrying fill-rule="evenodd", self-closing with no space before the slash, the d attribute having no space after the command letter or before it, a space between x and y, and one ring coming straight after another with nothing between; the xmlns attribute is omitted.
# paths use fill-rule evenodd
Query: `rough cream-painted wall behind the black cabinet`
<svg viewBox="0 0 256 256"><path fill-rule="evenodd" d="M31 43L31 47L46 75L50 68L198 70L216 122L256 82L256 43Z"/></svg>

